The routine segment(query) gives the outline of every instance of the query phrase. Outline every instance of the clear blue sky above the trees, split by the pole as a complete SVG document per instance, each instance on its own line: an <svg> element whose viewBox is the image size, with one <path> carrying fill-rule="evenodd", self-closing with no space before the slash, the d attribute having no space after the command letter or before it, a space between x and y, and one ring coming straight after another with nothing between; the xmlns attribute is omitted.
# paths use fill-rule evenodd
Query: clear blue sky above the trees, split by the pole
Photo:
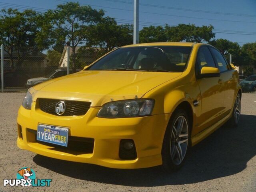
<svg viewBox="0 0 256 192"><path fill-rule="evenodd" d="M133 23L133 0L0 0L0 9L54 9L66 1L105 10L118 24ZM256 42L256 0L140 0L140 29L149 25L213 25L217 38Z"/></svg>

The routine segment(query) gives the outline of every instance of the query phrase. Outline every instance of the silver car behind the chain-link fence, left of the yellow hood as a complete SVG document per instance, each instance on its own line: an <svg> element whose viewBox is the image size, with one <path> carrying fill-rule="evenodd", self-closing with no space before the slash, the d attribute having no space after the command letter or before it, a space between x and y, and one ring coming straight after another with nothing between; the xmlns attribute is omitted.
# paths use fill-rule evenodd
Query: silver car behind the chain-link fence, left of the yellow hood
<svg viewBox="0 0 256 192"><path fill-rule="evenodd" d="M69 74L72 74L74 72L78 72L80 71L79 69L76 69L76 70L69 70ZM64 76L64 75L67 75L67 70L66 69L56 69L52 72L50 72L48 75L44 76L44 77L36 77L36 78L31 78L31 79L28 79L27 83L26 83L26 88L30 88L32 86L35 86L39 83L42 83L42 82L45 82L49 79L54 79L54 78L57 78L57 77L61 77L61 76Z"/></svg>

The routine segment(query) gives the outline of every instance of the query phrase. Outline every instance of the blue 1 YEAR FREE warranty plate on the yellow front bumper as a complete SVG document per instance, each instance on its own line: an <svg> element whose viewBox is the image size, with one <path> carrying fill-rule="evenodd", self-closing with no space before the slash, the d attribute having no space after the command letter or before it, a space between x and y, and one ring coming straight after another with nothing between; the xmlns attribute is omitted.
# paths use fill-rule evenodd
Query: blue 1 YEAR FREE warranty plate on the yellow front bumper
<svg viewBox="0 0 256 192"><path fill-rule="evenodd" d="M39 124L36 139L38 141L67 147L68 128Z"/></svg>

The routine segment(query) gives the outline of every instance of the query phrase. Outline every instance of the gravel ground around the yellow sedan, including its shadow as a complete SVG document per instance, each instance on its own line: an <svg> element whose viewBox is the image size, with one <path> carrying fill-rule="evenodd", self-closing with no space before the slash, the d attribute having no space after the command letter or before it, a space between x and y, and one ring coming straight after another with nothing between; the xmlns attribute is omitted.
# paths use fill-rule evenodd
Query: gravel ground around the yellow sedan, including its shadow
<svg viewBox="0 0 256 192"><path fill-rule="evenodd" d="M117 170L67 162L16 146L16 117L24 93L0 93L0 167L3 179L16 178L22 167L32 167L38 179L52 179L50 187L28 191L232 191L256 192L256 94L243 94L237 128L222 126L194 146L183 168L166 174L159 167ZM4 187L0 191L24 191Z"/></svg>

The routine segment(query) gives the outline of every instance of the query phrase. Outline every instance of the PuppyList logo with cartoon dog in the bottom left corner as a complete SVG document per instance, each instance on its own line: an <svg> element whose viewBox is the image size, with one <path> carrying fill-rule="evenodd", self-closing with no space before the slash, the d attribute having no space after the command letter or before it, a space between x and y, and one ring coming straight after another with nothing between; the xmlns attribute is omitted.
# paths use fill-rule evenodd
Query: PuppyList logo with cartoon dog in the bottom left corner
<svg viewBox="0 0 256 192"><path fill-rule="evenodd" d="M4 186L22 186L22 187L44 187L50 186L51 179L37 179L32 168L23 167L18 170L17 179L4 179Z"/></svg>

